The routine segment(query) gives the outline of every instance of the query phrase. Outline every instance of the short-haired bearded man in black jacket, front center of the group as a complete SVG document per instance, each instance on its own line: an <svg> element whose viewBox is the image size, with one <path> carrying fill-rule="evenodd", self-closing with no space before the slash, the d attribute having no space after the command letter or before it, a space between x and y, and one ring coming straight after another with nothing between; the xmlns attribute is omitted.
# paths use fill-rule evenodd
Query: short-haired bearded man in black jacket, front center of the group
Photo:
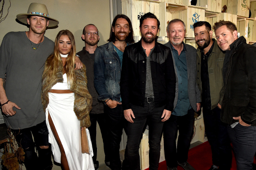
<svg viewBox="0 0 256 170"><path fill-rule="evenodd" d="M157 170L163 123L170 118L175 98L175 72L168 47L157 43L160 22L153 13L140 19L141 41L125 48L121 96L127 126L130 170L140 170L139 146L149 125L149 169Z"/></svg>

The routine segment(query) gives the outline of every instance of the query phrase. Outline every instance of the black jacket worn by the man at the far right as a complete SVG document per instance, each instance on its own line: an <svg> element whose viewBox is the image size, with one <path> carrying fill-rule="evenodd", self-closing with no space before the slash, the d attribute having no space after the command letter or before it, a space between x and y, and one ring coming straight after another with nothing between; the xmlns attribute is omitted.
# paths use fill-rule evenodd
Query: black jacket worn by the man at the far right
<svg viewBox="0 0 256 170"><path fill-rule="evenodd" d="M223 78L221 121L233 124L238 122L233 117L241 116L245 123L256 126L256 47L243 36L226 51Z"/></svg>

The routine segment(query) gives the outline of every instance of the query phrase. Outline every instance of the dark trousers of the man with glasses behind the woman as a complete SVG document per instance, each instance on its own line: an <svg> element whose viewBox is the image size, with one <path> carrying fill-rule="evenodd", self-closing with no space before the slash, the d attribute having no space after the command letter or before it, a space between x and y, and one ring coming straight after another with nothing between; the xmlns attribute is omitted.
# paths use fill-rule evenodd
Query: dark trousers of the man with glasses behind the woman
<svg viewBox="0 0 256 170"><path fill-rule="evenodd" d="M105 153L105 161L110 161L110 145L109 145L109 123L107 122L107 115L105 113L101 114L90 114L91 126L88 127L90 132L91 141L93 145L93 163L97 164L97 144L96 144L96 127L97 122L101 129L103 147ZM102 152L101 152L102 153Z"/></svg>

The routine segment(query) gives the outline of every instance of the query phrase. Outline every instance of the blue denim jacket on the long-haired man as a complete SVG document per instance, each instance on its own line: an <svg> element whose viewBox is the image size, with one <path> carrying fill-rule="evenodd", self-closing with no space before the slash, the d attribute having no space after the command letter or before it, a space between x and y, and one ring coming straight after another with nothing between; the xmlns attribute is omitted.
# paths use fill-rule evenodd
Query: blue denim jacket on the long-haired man
<svg viewBox="0 0 256 170"><path fill-rule="evenodd" d="M110 98L121 102L120 95L121 64L113 42L106 43L95 50L94 86L99 94L98 100Z"/></svg>

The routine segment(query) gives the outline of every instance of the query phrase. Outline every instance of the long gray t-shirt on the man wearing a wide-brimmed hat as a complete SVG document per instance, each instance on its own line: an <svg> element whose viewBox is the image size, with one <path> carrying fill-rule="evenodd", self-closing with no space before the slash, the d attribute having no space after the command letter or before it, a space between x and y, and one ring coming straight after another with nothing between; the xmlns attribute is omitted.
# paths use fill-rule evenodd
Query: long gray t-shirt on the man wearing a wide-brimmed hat
<svg viewBox="0 0 256 170"><path fill-rule="evenodd" d="M16 114L8 118L4 116L4 122L12 129L32 127L45 120L40 97L41 79L44 63L53 53L54 43L44 37L37 50L31 47L31 43L25 32L9 32L0 46L0 78L5 78L6 74L6 96L21 108L13 107Z"/></svg>

